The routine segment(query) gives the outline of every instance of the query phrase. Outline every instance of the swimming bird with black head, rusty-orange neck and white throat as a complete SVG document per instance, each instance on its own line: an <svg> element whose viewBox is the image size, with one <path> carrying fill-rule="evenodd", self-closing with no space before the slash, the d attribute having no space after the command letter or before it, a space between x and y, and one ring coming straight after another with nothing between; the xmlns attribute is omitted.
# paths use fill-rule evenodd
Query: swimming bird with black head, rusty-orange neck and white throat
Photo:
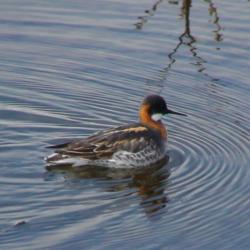
<svg viewBox="0 0 250 250"><path fill-rule="evenodd" d="M185 116L168 109L161 96L149 95L140 106L138 123L50 146L55 152L46 158L47 166L138 168L155 164L166 156L167 129L162 123L165 114Z"/></svg>

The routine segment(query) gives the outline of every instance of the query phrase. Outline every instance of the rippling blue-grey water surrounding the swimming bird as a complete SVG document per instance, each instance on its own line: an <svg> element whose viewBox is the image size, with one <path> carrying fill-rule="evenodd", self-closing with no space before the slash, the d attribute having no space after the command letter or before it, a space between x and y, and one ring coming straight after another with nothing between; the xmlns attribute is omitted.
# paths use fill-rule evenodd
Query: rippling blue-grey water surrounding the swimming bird
<svg viewBox="0 0 250 250"><path fill-rule="evenodd" d="M249 249L250 2L0 1L1 249ZM47 172L51 143L137 120L169 163Z"/></svg>

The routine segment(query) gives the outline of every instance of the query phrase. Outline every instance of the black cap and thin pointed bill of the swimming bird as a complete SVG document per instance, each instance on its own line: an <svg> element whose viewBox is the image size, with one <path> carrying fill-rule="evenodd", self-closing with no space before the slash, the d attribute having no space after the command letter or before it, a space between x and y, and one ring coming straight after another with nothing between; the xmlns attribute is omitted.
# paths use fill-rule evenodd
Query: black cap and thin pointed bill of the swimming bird
<svg viewBox="0 0 250 250"><path fill-rule="evenodd" d="M143 100L144 105L149 105L149 113L152 114L175 114L175 115L183 115L185 114L178 113L168 109L165 100L159 95L149 95Z"/></svg>

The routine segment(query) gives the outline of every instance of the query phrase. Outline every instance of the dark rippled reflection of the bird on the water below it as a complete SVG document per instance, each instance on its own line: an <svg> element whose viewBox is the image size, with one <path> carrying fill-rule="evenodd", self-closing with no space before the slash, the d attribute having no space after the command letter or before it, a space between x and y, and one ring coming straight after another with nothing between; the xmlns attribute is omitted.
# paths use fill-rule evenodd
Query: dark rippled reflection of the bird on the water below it
<svg viewBox="0 0 250 250"><path fill-rule="evenodd" d="M84 168L72 168L70 166L58 167L49 170L49 174L63 173L69 180L92 179L100 180L105 192L128 191L126 196L137 194L140 198L140 206L147 216L154 215L160 209L166 207L168 198L166 188L170 172L168 169L169 157L150 168L141 169L110 169L93 166ZM131 192L130 192L131 191ZM125 199L125 197L124 197Z"/></svg>

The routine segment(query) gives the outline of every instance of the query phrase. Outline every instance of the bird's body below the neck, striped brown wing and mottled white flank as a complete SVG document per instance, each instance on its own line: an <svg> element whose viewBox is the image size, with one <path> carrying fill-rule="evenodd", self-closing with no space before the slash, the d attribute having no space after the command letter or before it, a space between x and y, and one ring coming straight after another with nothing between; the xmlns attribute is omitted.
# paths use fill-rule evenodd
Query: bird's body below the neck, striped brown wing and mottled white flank
<svg viewBox="0 0 250 250"><path fill-rule="evenodd" d="M55 154L49 156L47 162L52 165L79 165L79 159L82 159L86 164L125 164L134 167L152 164L162 158L165 154L165 143L157 130L135 123L53 146Z"/></svg>

